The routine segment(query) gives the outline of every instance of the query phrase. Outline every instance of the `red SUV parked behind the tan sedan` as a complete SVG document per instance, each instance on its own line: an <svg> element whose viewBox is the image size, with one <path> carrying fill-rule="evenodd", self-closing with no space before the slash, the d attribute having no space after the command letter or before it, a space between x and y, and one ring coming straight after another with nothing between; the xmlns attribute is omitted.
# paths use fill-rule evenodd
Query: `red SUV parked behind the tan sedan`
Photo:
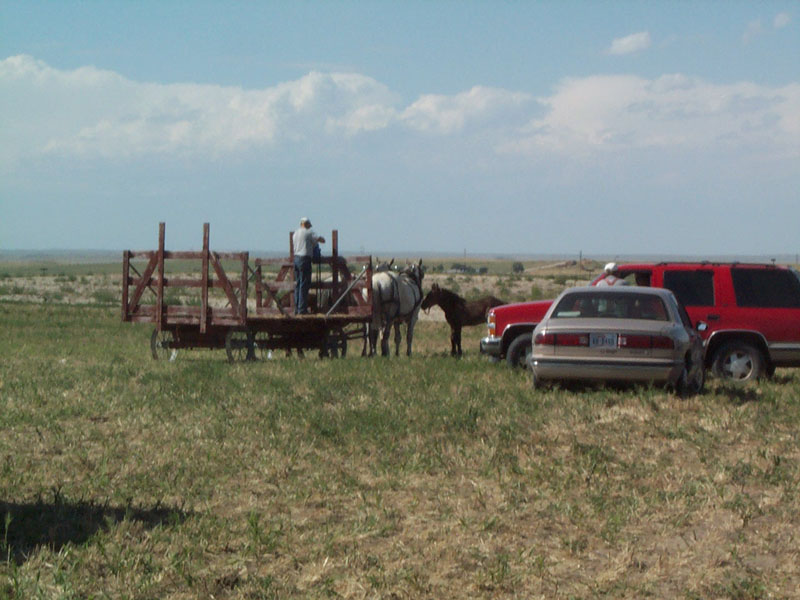
<svg viewBox="0 0 800 600"><path fill-rule="evenodd" d="M672 290L704 340L705 363L736 381L800 366L800 274L745 263L626 264L607 267L591 285L650 285ZM530 334L550 300L497 306L481 352L524 366Z"/></svg>

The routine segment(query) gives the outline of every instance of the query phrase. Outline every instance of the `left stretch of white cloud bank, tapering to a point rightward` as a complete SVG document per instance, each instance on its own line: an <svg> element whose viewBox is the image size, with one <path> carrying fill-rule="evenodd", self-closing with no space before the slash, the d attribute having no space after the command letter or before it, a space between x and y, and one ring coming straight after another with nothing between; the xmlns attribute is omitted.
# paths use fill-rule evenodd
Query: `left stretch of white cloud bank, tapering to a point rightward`
<svg viewBox="0 0 800 600"><path fill-rule="evenodd" d="M392 124L450 134L530 98L475 87L455 96L425 95L402 109L385 85L356 73L311 72L267 89L242 90L139 83L94 67L59 71L28 56L0 61L0 90L0 108L7 103L0 128L10 132L16 148L8 153L115 158L220 155Z"/></svg>

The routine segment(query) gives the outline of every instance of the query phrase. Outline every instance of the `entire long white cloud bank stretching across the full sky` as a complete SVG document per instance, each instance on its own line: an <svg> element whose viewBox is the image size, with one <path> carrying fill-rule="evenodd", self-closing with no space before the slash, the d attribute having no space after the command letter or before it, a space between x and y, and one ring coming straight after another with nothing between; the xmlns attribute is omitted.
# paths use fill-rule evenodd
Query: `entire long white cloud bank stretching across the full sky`
<svg viewBox="0 0 800 600"><path fill-rule="evenodd" d="M47 155L220 157L254 147L316 148L354 136L403 135L413 144L420 134L438 138L438 150L449 156L474 141L486 157L574 158L642 148L797 157L800 83L591 76L564 80L536 101L521 91L475 86L450 96L424 94L403 107L387 86L356 73L311 72L242 90L139 83L18 56L0 61L0 131L4 168Z"/></svg>

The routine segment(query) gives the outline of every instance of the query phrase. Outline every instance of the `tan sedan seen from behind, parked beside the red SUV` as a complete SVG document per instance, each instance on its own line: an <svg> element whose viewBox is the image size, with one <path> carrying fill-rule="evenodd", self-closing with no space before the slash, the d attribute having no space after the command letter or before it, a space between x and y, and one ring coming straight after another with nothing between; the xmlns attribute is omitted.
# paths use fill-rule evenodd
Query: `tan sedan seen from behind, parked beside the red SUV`
<svg viewBox="0 0 800 600"><path fill-rule="evenodd" d="M689 395L705 383L702 339L666 289L566 290L532 335L534 387L553 380L638 381Z"/></svg>

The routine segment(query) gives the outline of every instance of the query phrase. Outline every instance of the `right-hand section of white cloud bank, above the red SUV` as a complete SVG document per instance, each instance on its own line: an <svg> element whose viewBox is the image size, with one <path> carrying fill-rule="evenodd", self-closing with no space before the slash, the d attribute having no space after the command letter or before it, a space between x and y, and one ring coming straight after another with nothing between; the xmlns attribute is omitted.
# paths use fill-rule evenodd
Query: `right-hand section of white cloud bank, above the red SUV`
<svg viewBox="0 0 800 600"><path fill-rule="evenodd" d="M540 99L533 119L505 152L577 156L637 149L735 148L800 156L800 84L766 88L712 84L683 75L657 79L568 79Z"/></svg>

